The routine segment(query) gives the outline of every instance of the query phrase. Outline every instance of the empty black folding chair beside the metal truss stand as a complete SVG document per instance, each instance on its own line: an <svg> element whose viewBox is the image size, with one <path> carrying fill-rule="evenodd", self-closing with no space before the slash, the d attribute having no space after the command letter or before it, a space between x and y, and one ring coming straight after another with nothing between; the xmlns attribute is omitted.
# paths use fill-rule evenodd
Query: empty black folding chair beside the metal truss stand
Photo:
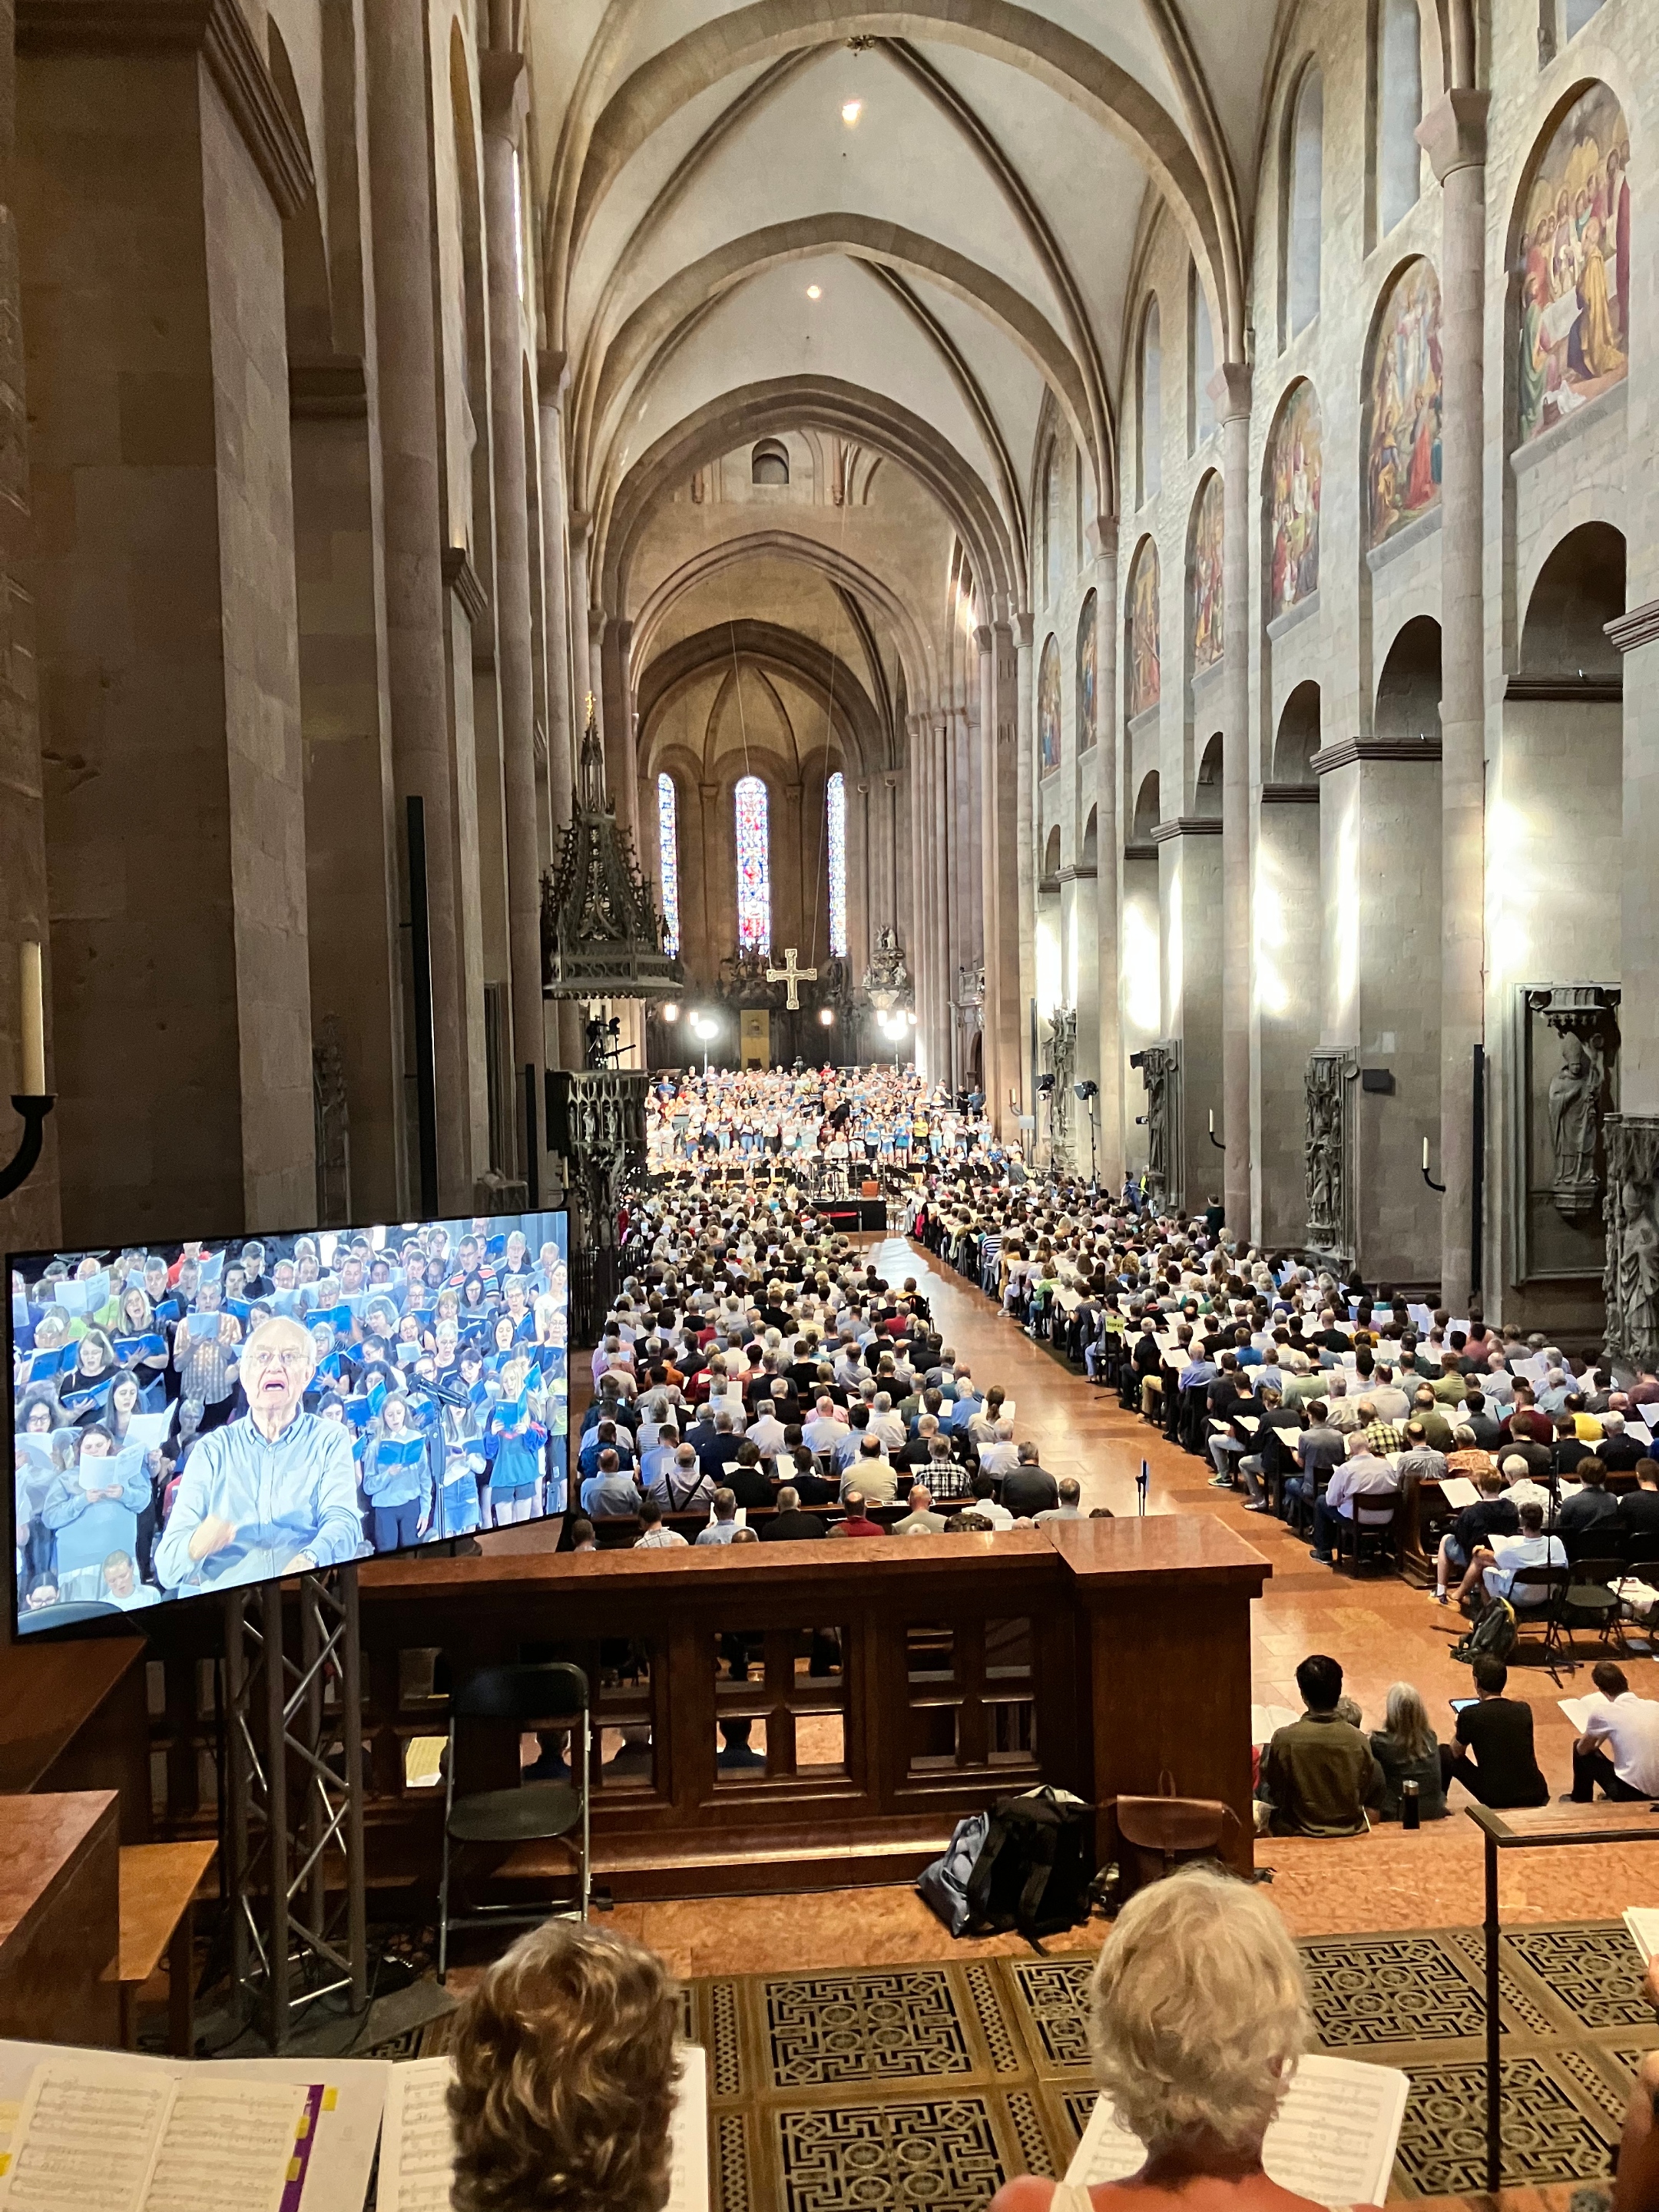
<svg viewBox="0 0 1659 2212"><path fill-rule="evenodd" d="M582 1781L520 1783L515 1790L480 1790L456 1796L456 1741L467 1728L511 1728L513 1747L526 1728L544 1728L549 1721L568 1721L571 1736L580 1739ZM438 1980L449 1971L449 1929L476 1927L482 1920L498 1920L520 1927L540 1927L542 1920L588 1918L593 1891L593 1865L588 1851L588 1750L591 1725L588 1677L577 1666L553 1661L549 1666L493 1666L462 1681L449 1694L449 1756L445 1761L445 1847L442 1871L438 1876ZM575 1747L575 1743L573 1743ZM467 1845L524 1845L553 1843L580 1834L575 1867L575 1907L560 1911L557 1905L473 1905L465 1913L449 1909L451 1856Z"/></svg>

